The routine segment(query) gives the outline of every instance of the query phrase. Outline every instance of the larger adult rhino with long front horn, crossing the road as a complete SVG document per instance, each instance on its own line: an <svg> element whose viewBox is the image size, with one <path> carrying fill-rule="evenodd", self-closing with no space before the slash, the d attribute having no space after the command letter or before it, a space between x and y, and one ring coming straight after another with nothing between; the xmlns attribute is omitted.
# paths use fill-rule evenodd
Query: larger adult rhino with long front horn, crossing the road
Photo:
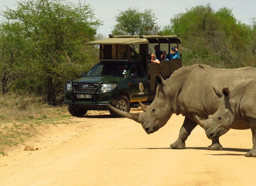
<svg viewBox="0 0 256 186"><path fill-rule="evenodd" d="M155 79L158 83L156 97L150 106L140 103L143 113L126 113L110 105L109 107L118 114L141 123L147 134L164 126L172 114L182 114L185 120L179 137L170 146L183 149L187 137L197 125L195 116L207 119L208 115L215 113L219 105L216 93L220 94L223 87L233 88L256 79L256 68L221 69L200 64L181 67L165 81L159 74L155 75ZM212 138L212 145L207 149L223 149L217 136Z"/></svg>

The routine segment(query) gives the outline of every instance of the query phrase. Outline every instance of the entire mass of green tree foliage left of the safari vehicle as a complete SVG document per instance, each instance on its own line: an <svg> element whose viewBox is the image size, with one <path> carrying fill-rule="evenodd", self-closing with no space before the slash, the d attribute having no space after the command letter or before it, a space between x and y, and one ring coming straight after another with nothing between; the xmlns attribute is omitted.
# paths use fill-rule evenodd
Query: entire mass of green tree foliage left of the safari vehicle
<svg viewBox="0 0 256 186"><path fill-rule="evenodd" d="M22 85L25 91L45 95L49 104L56 105L66 80L88 70L98 59L95 48L84 44L94 39L101 25L90 5L28 0L18 2L16 10L7 8L3 16L1 78L6 81L8 77L7 84L15 80L14 89ZM5 93L8 85L2 84Z"/></svg>

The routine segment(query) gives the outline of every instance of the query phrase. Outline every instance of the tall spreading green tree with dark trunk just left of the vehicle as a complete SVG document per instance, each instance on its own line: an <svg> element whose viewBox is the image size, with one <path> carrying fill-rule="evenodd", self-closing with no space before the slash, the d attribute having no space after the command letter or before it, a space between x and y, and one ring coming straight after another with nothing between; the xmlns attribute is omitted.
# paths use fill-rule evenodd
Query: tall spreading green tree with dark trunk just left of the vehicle
<svg viewBox="0 0 256 186"><path fill-rule="evenodd" d="M56 105L63 96L65 81L95 63L95 48L84 43L94 39L102 22L95 18L90 5L66 0L21 1L16 10L8 8L3 16L5 24L17 23L32 50L27 60L34 75L21 79L19 85L32 87L46 95L48 104Z"/></svg>

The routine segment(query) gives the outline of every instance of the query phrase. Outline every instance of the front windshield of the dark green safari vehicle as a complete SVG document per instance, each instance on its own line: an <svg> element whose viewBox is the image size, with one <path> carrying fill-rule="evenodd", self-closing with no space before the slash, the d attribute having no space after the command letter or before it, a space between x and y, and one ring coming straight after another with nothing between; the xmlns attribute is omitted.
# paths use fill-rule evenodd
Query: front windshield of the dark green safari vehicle
<svg viewBox="0 0 256 186"><path fill-rule="evenodd" d="M86 76L125 77L128 67L128 65L123 64L98 63L86 74Z"/></svg>

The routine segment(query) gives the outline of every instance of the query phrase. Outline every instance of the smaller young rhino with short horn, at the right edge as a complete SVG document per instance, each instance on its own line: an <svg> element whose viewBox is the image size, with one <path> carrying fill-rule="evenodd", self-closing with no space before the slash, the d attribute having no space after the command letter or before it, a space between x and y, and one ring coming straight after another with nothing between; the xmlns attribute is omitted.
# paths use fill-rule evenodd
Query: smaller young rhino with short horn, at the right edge
<svg viewBox="0 0 256 186"><path fill-rule="evenodd" d="M235 87L231 91L224 88L222 93L218 110L209 115L207 120L196 116L198 124L205 129L209 139L220 137L230 128L251 128L253 147L245 156L256 157L256 80Z"/></svg>

